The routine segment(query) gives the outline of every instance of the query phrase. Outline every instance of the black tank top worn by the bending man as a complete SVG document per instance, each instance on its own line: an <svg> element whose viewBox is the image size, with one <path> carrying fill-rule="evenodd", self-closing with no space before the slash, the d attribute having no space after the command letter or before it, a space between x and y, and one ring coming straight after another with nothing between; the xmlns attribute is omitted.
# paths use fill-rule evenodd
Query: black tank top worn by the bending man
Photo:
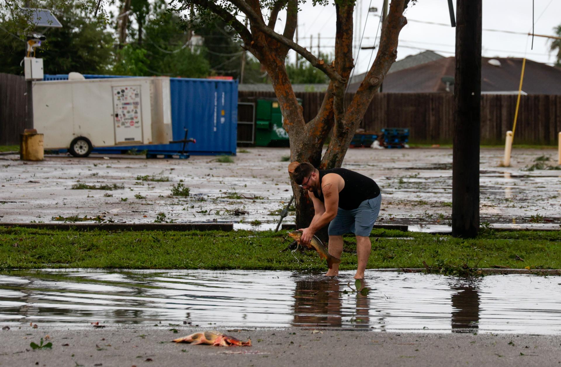
<svg viewBox="0 0 561 367"><path fill-rule="evenodd" d="M350 171L346 168L332 168L319 171L319 185L323 176L328 173L337 173L343 177L345 187L339 192L339 208L345 210L353 210L364 200L374 199L380 195L380 187L370 177L361 175L360 173ZM323 192L319 194L314 190L316 198L324 202Z"/></svg>

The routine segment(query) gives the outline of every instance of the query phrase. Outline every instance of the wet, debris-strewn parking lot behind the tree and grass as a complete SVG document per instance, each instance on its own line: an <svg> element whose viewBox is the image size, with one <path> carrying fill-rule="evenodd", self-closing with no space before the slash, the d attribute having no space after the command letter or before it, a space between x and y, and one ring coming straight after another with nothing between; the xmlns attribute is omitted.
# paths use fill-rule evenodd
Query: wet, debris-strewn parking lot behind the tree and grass
<svg viewBox="0 0 561 367"><path fill-rule="evenodd" d="M241 153L246 152L246 153ZM232 163L217 157L144 159L113 155L49 156L22 162L0 156L2 222L234 222L271 227L292 192L287 148L240 149ZM549 159L536 161L537 158ZM516 149L512 167L499 167L502 149L481 149L482 222L499 227L559 229L561 171L554 149ZM382 190L378 223L412 229L450 226L452 149L350 149L344 168L374 178ZM72 190L73 185L117 185L114 190ZM172 196L184 185L190 196ZM121 188L122 187L122 188ZM284 223L294 221L294 212ZM164 214L165 216L163 216Z"/></svg>

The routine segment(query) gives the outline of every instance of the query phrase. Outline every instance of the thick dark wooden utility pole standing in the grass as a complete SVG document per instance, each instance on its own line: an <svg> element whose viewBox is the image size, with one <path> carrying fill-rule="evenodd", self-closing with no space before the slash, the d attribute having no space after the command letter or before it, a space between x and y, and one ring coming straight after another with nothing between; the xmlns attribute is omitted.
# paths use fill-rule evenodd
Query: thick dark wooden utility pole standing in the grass
<svg viewBox="0 0 561 367"><path fill-rule="evenodd" d="M481 1L456 3L452 235L463 238L479 232Z"/></svg>

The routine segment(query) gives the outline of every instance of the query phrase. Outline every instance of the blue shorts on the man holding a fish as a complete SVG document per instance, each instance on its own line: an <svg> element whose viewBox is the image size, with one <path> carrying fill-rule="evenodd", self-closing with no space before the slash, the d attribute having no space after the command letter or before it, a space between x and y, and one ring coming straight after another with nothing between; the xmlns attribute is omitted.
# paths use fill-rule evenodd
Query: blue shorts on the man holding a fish
<svg viewBox="0 0 561 367"><path fill-rule="evenodd" d="M362 201L358 208L345 210L338 208L337 215L329 223L327 230L329 236L342 236L345 233L355 233L357 236L369 237L374 222L380 213L382 195L374 199Z"/></svg>

